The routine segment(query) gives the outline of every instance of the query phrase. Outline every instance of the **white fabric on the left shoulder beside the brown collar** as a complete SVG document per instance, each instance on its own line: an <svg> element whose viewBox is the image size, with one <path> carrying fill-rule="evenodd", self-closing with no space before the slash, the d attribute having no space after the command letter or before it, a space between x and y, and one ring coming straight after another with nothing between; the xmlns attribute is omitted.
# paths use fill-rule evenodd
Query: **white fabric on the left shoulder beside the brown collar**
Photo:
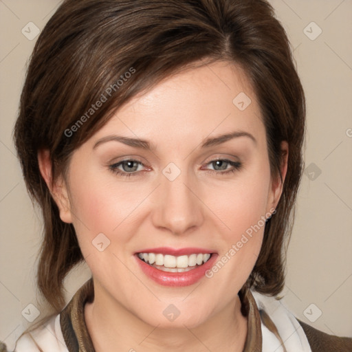
<svg viewBox="0 0 352 352"><path fill-rule="evenodd" d="M60 327L60 314L47 324L25 333L16 343L14 352L68 352Z"/></svg>

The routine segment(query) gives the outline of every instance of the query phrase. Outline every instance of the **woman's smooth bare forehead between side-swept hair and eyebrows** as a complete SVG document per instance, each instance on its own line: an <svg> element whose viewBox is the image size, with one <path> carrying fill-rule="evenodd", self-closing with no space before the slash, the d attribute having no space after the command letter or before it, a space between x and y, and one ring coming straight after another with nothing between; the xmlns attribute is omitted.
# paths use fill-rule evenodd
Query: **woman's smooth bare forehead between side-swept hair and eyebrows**
<svg viewBox="0 0 352 352"><path fill-rule="evenodd" d="M215 62L164 78L118 109L91 142L111 133L167 142L186 140L235 129L256 134L265 131L259 104L240 67Z"/></svg>

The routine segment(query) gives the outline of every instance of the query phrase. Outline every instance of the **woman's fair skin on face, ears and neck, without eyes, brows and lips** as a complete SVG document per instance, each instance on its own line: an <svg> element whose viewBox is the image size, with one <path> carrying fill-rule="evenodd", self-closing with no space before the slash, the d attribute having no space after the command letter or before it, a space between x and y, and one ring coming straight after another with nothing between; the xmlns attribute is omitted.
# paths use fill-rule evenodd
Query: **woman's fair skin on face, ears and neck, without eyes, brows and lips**
<svg viewBox="0 0 352 352"><path fill-rule="evenodd" d="M245 92L251 104L240 111L232 100ZM230 131L251 133L201 149L207 137ZM155 144L146 151L120 142L94 144L107 135L140 137ZM286 142L282 148L288 152ZM212 163L239 161L228 175ZM122 159L123 177L109 169ZM162 170L173 162L175 180ZM50 158L39 152L50 185ZM130 168L135 167L133 170ZM287 153L281 173L285 179ZM213 173L211 173L213 172ZM264 226L212 278L187 287L165 287L141 272L133 254L142 248L200 247L220 258L245 230L272 212L283 184L270 174L265 126L248 80L239 67L216 62L170 76L121 107L72 155L66 179L51 187L62 221L73 223L94 277L95 299L85 320L96 351L243 351L247 319L237 293L247 280L263 241ZM99 252L99 233L110 245ZM163 315L173 304L173 322Z"/></svg>

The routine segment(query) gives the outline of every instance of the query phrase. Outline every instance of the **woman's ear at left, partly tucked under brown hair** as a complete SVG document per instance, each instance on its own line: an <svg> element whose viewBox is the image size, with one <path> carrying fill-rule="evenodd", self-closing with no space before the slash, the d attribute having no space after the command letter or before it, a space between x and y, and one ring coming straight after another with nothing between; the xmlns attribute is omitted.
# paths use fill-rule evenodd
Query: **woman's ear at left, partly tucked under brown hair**
<svg viewBox="0 0 352 352"><path fill-rule="evenodd" d="M47 149L41 149L38 151L38 163L41 175L58 206L61 220L65 223L72 223L71 205L69 203L67 186L61 175L53 182L52 160L50 159L50 152Z"/></svg>

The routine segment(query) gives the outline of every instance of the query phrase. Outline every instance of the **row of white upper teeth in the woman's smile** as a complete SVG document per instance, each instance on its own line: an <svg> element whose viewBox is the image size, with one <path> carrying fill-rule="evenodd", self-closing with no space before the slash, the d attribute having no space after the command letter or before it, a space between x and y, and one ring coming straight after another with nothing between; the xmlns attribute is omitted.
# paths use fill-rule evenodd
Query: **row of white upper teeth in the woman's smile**
<svg viewBox="0 0 352 352"><path fill-rule="evenodd" d="M164 267L194 267L206 263L210 254L190 254L190 256L170 256L169 254L139 253L140 259L146 263L164 265Z"/></svg>

